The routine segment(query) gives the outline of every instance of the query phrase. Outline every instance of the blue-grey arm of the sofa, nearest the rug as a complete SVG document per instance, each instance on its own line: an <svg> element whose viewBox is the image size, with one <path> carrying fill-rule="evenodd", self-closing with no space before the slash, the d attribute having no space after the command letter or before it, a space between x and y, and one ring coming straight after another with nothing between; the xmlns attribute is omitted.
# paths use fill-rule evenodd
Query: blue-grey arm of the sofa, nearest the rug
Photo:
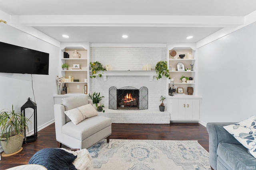
<svg viewBox="0 0 256 170"><path fill-rule="evenodd" d="M210 122L206 128L209 134L209 162L213 169L217 165L217 147L220 142L240 144L223 126L234 124L235 122Z"/></svg>

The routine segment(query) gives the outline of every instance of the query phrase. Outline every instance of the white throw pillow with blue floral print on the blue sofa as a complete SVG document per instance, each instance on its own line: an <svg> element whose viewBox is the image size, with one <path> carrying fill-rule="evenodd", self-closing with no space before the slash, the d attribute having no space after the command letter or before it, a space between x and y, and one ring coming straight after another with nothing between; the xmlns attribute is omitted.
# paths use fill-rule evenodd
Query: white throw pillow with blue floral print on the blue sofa
<svg viewBox="0 0 256 170"><path fill-rule="evenodd" d="M256 116L224 126L224 129L233 135L256 158Z"/></svg>

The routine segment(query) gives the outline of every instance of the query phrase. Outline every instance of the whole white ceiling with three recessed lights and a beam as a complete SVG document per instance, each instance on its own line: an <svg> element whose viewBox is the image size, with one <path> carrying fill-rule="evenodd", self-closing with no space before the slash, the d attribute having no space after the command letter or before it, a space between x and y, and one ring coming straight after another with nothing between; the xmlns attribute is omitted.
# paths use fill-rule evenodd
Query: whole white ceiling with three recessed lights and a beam
<svg viewBox="0 0 256 170"><path fill-rule="evenodd" d="M0 0L0 10L60 42L182 43L239 27L256 0Z"/></svg>

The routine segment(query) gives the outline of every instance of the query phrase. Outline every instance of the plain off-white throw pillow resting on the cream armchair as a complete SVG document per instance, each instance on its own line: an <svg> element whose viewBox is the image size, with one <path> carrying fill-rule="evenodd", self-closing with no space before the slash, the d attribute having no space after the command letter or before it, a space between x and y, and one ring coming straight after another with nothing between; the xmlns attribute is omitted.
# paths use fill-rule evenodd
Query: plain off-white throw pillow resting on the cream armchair
<svg viewBox="0 0 256 170"><path fill-rule="evenodd" d="M77 125L86 118L98 115L98 112L94 109L94 107L91 104L86 104L84 106L70 109L68 111L64 111L64 113L70 118L70 120L75 125Z"/></svg>

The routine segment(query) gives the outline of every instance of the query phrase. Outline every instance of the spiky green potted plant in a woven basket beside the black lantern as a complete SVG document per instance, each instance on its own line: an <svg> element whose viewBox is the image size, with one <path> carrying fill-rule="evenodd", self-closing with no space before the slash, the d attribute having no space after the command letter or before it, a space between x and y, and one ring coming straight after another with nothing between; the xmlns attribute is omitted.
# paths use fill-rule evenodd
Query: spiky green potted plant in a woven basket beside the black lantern
<svg viewBox="0 0 256 170"><path fill-rule="evenodd" d="M2 156L11 156L22 150L25 137L24 131L28 130L30 120L19 111L2 109L0 111L0 143L4 153Z"/></svg>

